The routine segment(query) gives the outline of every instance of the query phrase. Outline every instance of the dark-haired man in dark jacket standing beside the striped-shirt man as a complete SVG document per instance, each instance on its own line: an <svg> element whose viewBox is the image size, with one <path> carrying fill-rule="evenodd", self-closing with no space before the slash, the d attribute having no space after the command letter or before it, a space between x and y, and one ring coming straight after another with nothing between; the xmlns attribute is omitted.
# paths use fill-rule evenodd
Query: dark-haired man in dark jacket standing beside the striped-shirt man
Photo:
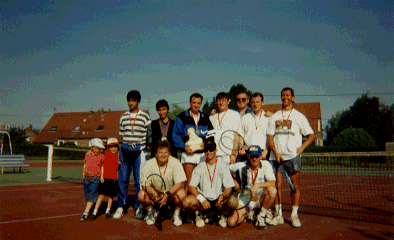
<svg viewBox="0 0 394 240"><path fill-rule="evenodd" d="M152 158L156 154L156 143L158 141L168 141L171 145L171 155L177 158L177 149L172 140L172 130L175 121L168 118L168 111L170 106L164 99L156 103L156 111L159 114L159 119L152 121Z"/></svg>

